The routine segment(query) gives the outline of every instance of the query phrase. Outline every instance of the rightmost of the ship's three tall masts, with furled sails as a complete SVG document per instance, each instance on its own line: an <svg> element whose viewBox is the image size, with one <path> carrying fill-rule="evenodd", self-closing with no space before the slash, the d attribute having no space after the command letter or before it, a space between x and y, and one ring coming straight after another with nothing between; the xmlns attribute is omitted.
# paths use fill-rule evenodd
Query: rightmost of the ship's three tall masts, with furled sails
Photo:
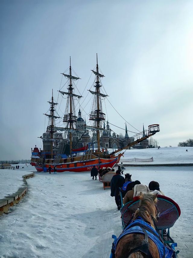
<svg viewBox="0 0 193 258"><path fill-rule="evenodd" d="M96 71L91 70L95 75L96 75L96 82L95 82L95 91L90 91L90 93L94 94L94 99L93 99L93 105L92 105L92 111L90 114L90 119L95 121L94 126L96 126L96 136L97 136L97 149L98 152L100 151L100 131L99 128L101 127L100 122L105 120L105 113L102 111L102 103L101 103L101 97L106 97L108 95L104 95L100 93L100 77L104 77L103 74L99 73L99 66L98 66L98 56L96 54Z"/></svg>

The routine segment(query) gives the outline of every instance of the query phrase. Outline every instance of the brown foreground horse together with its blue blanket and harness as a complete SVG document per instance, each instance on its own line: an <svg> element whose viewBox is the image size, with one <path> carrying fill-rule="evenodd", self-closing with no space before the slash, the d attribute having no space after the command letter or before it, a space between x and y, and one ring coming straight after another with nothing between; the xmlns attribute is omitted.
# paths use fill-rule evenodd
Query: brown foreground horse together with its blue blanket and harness
<svg viewBox="0 0 193 258"><path fill-rule="evenodd" d="M125 228L125 230L123 230L119 238L115 240L115 245L113 243L115 247L115 254L112 257L176 257L175 252L173 250L169 249L169 247L164 246L163 241L155 231L154 222L157 221L157 217L159 216L156 202L157 194L143 194L142 192L140 193L139 208L136 210L131 223ZM139 229L141 231L139 231ZM130 232L128 233L129 230ZM156 238L156 241L153 241L151 239L152 237L149 232L153 232L152 234ZM155 244L155 242L157 244ZM158 250L158 246L159 249L162 251Z"/></svg>

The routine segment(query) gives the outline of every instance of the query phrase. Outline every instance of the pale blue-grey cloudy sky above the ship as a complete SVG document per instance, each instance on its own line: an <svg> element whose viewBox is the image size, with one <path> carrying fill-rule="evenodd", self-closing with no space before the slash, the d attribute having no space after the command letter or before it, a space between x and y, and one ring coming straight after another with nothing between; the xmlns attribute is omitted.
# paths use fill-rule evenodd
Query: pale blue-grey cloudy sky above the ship
<svg viewBox="0 0 193 258"><path fill-rule="evenodd" d="M140 131L143 123L145 128L159 123L154 138L161 147L193 138L193 1L1 0L0 5L0 160L30 158L31 147L41 147L37 136L48 122L43 113L52 88L58 98L69 56L82 93L98 53L109 101ZM105 103L109 122L125 128Z"/></svg>

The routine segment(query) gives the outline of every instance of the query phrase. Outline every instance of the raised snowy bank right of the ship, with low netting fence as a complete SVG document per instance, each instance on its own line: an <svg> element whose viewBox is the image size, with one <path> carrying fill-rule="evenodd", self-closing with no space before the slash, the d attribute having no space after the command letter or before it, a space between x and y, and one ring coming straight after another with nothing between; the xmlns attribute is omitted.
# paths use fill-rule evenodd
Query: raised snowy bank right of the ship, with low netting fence
<svg viewBox="0 0 193 258"><path fill-rule="evenodd" d="M186 152L188 150L188 152ZM167 147L126 150L121 162L128 163L129 158L151 158L153 162L129 162L129 164L172 164L193 163L193 147Z"/></svg>

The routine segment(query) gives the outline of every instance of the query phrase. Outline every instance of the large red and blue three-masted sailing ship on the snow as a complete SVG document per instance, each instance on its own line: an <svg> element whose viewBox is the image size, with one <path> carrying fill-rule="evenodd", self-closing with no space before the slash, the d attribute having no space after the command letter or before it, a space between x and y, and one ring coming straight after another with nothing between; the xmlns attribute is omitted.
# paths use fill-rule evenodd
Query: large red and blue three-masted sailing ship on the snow
<svg viewBox="0 0 193 258"><path fill-rule="evenodd" d="M74 89L77 88L75 82L80 78L78 76L72 75L71 67L71 57L70 57L70 67L69 73L62 73L68 81L68 91L59 90L62 96L67 96L66 108L63 116L63 127L56 126L55 121L60 119L60 116L56 116L56 106L57 102L54 102L53 90L50 104L49 114L44 114L49 118L49 123L46 132L40 139L43 141L43 150L39 150L36 146L32 150L31 165L35 166L37 171L48 171L49 165L53 169L54 166L57 167L57 172L87 172L90 171L95 165L96 168L107 168L111 169L120 161L121 156L124 154L123 150L130 149L143 140L153 136L156 132L160 131L159 124L153 124L148 126L147 130L139 132L132 137L127 137L127 144L109 153L108 148L101 147L100 134L104 134L105 128L105 113L103 113L102 100L108 95L101 92L101 79L104 77L99 71L98 57L96 54L96 70L91 70L95 75L95 90L88 90L93 94L93 101L91 105L91 112L89 114L89 120L91 125L84 125L76 128L75 123L78 121L75 114L75 101L82 98L81 95L77 95ZM80 109L79 109L80 113ZM81 118L82 119L82 118ZM82 121L84 121L82 119ZM104 126L103 126L104 124ZM108 121L107 121L108 124ZM102 128L103 126L103 128ZM107 131L109 128L107 128ZM93 132L94 137L90 142L84 141L84 146L78 146L80 141L83 139L88 139L89 132ZM75 134L80 136L77 140ZM126 131L127 133L127 131ZM105 135L105 134L104 134ZM107 146L108 147L108 146Z"/></svg>

